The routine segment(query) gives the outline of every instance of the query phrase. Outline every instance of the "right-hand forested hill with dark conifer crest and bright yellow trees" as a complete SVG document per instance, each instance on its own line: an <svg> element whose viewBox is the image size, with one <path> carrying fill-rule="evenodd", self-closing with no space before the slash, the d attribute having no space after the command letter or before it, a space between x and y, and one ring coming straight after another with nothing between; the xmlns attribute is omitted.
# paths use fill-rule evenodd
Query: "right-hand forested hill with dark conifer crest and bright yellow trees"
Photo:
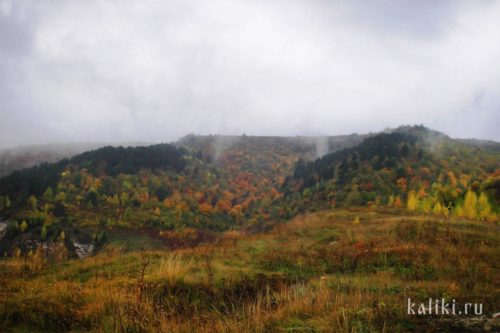
<svg viewBox="0 0 500 333"><path fill-rule="evenodd" d="M499 204L498 146L471 145L420 126L402 127L315 161L298 161L284 191L289 205L299 209L409 205L459 215L469 196L490 207L476 207L487 218Z"/></svg>

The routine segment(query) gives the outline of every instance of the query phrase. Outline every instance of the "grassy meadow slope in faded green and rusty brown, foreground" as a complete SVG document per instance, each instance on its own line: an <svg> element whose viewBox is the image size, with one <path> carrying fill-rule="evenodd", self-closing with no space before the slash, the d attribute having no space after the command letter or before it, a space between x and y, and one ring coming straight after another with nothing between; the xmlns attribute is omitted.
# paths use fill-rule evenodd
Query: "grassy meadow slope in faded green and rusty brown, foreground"
<svg viewBox="0 0 500 333"><path fill-rule="evenodd" d="M499 329L485 319L500 309L497 223L359 208L185 248L140 239L86 259L1 259L0 331ZM408 315L408 297L482 303L484 316Z"/></svg>

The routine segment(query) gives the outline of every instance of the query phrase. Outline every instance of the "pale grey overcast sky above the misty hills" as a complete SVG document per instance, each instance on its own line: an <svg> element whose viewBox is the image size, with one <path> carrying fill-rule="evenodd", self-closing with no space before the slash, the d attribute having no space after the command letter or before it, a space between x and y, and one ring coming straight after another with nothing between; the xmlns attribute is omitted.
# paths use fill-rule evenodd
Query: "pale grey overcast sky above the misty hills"
<svg viewBox="0 0 500 333"><path fill-rule="evenodd" d="M500 1L0 0L0 147L336 135L500 141Z"/></svg>

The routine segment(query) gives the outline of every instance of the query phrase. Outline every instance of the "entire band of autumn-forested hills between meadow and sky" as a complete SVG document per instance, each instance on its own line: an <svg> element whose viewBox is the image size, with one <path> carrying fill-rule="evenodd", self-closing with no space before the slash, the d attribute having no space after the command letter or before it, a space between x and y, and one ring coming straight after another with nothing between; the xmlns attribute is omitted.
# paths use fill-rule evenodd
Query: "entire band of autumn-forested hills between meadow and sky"
<svg viewBox="0 0 500 333"><path fill-rule="evenodd" d="M29 239L97 244L120 230L168 244L198 242L338 206L494 221L496 145L415 126L315 138L190 135L173 144L104 147L0 178L0 217L9 221L0 250Z"/></svg>

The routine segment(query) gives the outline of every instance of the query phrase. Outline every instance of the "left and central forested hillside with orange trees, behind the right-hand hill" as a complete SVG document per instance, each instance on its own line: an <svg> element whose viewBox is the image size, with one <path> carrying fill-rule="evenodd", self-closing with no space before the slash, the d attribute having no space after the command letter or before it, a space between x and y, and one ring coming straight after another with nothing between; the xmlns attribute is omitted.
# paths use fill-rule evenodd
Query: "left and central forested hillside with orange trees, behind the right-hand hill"
<svg viewBox="0 0 500 333"><path fill-rule="evenodd" d="M98 244L120 230L178 244L263 225L284 217L275 203L299 158L362 138L191 135L174 145L105 147L16 171L0 179L0 217L9 221L0 250L61 234Z"/></svg>

